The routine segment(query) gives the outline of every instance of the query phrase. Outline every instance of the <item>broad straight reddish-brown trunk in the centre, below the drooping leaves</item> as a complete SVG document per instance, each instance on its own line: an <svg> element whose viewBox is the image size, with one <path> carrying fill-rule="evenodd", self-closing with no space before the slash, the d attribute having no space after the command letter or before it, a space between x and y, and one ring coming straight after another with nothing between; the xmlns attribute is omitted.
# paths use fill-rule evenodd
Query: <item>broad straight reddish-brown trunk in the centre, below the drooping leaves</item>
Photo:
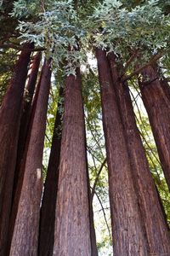
<svg viewBox="0 0 170 256"><path fill-rule="evenodd" d="M54 255L91 255L82 81L65 83L65 113L55 215Z"/></svg>

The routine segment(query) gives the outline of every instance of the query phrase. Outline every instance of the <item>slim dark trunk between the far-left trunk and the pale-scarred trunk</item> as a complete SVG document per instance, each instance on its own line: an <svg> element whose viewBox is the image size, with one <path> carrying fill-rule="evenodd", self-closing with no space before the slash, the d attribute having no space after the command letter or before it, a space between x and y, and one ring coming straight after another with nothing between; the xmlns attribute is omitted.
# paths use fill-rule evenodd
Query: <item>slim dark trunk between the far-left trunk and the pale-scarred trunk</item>
<svg viewBox="0 0 170 256"><path fill-rule="evenodd" d="M34 56L28 84L26 85L26 96L24 98L22 115L20 119L20 133L19 133L19 142L18 142L18 150L17 150L16 171L14 173L13 198L17 188L18 178L20 177L20 170L21 170L20 165L21 165L21 160L23 158L24 149L26 146L26 135L27 135L29 121L31 117L32 98L33 98L34 90L37 83L37 73L40 65L40 60L41 60L41 52L37 53L37 55Z"/></svg>

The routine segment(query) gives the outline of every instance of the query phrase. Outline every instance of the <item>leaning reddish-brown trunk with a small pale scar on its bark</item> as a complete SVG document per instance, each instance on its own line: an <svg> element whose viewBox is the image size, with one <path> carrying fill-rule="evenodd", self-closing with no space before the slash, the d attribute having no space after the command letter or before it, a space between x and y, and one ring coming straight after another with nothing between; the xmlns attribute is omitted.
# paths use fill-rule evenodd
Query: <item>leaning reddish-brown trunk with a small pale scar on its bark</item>
<svg viewBox="0 0 170 256"><path fill-rule="evenodd" d="M31 126L27 138L24 163L25 174L11 241L9 254L11 256L37 256L42 196L42 153L51 78L50 62L50 60L44 62L37 101L34 102L35 105L31 114Z"/></svg>

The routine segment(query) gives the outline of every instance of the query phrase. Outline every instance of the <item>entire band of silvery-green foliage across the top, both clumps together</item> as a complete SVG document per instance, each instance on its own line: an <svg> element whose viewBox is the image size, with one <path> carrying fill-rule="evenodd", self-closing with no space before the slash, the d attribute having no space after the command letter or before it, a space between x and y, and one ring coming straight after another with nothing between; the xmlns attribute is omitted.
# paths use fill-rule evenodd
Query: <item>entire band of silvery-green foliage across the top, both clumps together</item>
<svg viewBox="0 0 170 256"><path fill-rule="evenodd" d="M20 21L20 40L46 49L54 67L65 61L65 73L75 75L76 67L87 62L87 46L114 51L124 62L129 52L138 49L140 63L168 48L170 16L164 15L159 2L131 1L127 7L125 1L105 0L95 8L90 3L89 15L83 5L75 9L72 0L47 1L41 8L37 1L19 0L12 15L22 18L33 13L33 20Z"/></svg>

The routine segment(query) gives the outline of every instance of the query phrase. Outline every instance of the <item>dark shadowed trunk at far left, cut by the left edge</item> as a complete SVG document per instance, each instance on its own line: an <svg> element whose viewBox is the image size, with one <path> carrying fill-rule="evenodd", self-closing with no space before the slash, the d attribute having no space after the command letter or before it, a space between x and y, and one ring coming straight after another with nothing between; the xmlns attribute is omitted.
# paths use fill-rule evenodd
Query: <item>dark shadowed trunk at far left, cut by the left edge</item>
<svg viewBox="0 0 170 256"><path fill-rule="evenodd" d="M20 53L0 108L0 255L5 255L7 245L22 99L31 49L31 44L25 44Z"/></svg>

